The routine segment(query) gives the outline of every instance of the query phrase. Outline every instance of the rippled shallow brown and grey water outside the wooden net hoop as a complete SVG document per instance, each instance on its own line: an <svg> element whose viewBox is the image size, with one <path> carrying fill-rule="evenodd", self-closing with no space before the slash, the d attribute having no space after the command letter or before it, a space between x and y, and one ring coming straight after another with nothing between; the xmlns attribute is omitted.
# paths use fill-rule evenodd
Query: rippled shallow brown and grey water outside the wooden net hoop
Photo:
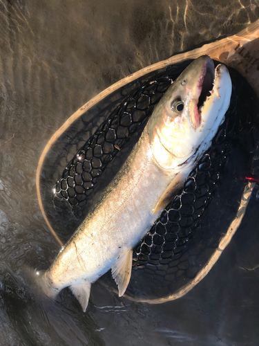
<svg viewBox="0 0 259 346"><path fill-rule="evenodd" d="M59 251L35 185L50 136L117 80L258 17L258 1L244 0L0 2L0 345L258 345L256 201L180 300L137 304L97 282L82 313L68 289L46 302L24 279Z"/></svg>

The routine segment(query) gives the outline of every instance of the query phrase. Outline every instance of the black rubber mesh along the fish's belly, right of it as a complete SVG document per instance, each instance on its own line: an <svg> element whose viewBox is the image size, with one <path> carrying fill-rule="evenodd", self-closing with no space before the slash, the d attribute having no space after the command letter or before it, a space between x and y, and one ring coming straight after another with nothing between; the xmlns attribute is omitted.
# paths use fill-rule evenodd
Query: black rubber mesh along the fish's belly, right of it
<svg viewBox="0 0 259 346"><path fill-rule="evenodd" d="M166 206L148 235L135 248L134 265L167 264L172 256L178 255L186 247L217 190L231 149L236 116L236 109L231 109L233 111L227 113L227 121L213 139L211 149L202 156L186 179L184 188Z"/></svg>

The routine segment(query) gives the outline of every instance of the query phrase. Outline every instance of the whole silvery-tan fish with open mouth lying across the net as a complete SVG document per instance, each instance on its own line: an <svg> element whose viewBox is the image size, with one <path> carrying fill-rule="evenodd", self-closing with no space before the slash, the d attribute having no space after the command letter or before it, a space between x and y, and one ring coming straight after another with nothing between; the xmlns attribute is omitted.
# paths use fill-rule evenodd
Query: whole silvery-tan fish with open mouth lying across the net
<svg viewBox="0 0 259 346"><path fill-rule="evenodd" d="M69 286L85 312L91 284L110 269L124 295L133 248L209 149L231 91L227 67L215 67L207 55L169 86L121 170L41 275L46 295L55 298Z"/></svg>

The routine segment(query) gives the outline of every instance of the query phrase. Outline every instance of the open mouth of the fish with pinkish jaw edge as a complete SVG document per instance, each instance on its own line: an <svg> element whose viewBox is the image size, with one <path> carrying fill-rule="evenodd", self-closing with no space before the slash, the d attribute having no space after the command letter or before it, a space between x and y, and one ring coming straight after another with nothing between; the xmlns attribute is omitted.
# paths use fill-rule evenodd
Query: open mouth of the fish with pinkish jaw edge
<svg viewBox="0 0 259 346"><path fill-rule="evenodd" d="M215 85L215 66L213 60L207 55L202 60L202 72L195 84L195 91L193 92L193 100L191 101L191 122L195 129L198 129L202 123L202 109L205 102L209 99L214 92Z"/></svg>

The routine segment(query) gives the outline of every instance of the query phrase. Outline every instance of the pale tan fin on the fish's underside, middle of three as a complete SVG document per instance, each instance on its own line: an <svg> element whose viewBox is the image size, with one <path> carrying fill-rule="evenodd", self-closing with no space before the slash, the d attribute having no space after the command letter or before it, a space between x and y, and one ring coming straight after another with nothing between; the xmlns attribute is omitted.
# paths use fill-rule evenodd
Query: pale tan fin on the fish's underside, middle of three
<svg viewBox="0 0 259 346"><path fill-rule="evenodd" d="M126 253L121 253L111 267L113 279L118 285L119 297L124 295L128 287L128 282L131 279L132 256L133 250L131 249L126 251Z"/></svg>

